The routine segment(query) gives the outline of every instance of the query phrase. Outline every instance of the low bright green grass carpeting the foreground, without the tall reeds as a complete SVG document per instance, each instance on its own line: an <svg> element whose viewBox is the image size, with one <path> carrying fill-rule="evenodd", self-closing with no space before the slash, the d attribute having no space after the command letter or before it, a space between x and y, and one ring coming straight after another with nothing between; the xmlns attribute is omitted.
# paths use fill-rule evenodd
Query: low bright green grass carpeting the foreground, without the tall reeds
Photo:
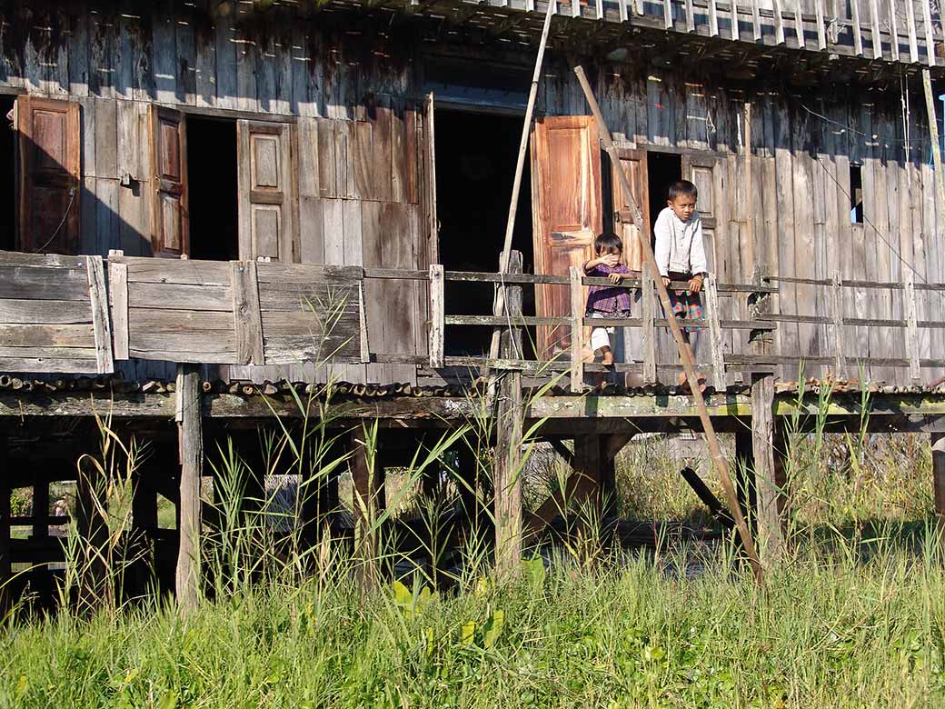
<svg viewBox="0 0 945 709"><path fill-rule="evenodd" d="M60 614L3 635L0 703L811 708L945 701L940 565L889 547L868 562L847 551L793 559L765 591L717 556L691 580L666 570L671 558L641 557L579 573L562 562L545 579L499 588L483 581L478 590L471 584L416 604L398 604L388 588L362 604L344 582L273 581L207 602L187 623L167 609L89 621Z"/></svg>

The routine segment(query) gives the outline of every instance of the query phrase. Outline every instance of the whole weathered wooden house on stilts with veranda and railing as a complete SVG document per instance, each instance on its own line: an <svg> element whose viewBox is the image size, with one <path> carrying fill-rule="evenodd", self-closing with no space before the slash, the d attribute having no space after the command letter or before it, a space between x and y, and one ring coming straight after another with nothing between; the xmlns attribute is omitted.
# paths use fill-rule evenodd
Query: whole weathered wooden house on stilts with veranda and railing
<svg viewBox="0 0 945 709"><path fill-rule="evenodd" d="M348 419L414 432L471 416L442 388L487 365L570 375L568 395L524 414L509 397L496 416L547 420L542 435L574 439L575 470L606 486L633 432L697 420L685 397L653 396L679 361L645 272L616 369L649 389L586 395L584 373L602 369L584 361L587 283L572 268L613 229L641 270L637 233L650 233L668 184L688 179L712 271L698 323L700 364L723 397L710 413L742 432L774 548L783 467L770 442L783 435L777 418L809 402L775 406L773 377L919 387L915 398L945 370L941 10L931 0L554 2L511 231L517 268L502 273L544 2L0 4L0 389L10 389L0 435L20 436L10 455L36 454L22 421L88 419L90 391L93 402L117 397L119 418L177 421L189 441L180 472L148 477L151 501L135 514L148 525L152 498L174 497L186 594L199 569L201 421L210 437L290 418L291 406L259 398L280 382L304 391L343 380L357 399L344 404ZM577 65L619 168L601 151ZM515 307L493 312L494 288L519 285ZM499 360L495 327L512 331ZM96 393L68 377L112 372L124 389ZM940 397L885 391L877 426L945 441ZM832 415L840 427L859 421L852 404ZM511 455L516 443L498 444ZM81 447L70 445L63 459ZM355 488L373 500L359 455ZM945 491L945 458L936 470ZM578 477L569 491L586 487ZM34 485L42 500L47 478L6 485ZM11 559L39 553L16 557L7 503L0 494L0 578ZM521 497L501 507L497 538L520 538ZM26 520L37 537L47 522Z"/></svg>

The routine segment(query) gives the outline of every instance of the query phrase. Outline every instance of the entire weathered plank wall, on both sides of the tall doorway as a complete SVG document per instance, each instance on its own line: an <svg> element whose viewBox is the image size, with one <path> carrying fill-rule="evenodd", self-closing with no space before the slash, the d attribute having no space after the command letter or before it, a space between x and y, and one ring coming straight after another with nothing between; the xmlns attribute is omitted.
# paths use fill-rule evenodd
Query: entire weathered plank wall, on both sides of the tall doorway
<svg viewBox="0 0 945 709"><path fill-rule="evenodd" d="M417 158L423 130L416 111L421 50L377 30L333 29L320 18L304 23L266 15L271 22L243 22L241 13L249 7L244 3L236 4L235 15L213 19L212 5L198 0L126 7L79 0L68 13L2 10L0 43L17 45L2 47L0 85L72 97L82 105L83 248L146 254L151 219L146 114L150 101L160 101L190 111L226 109L295 122L301 262L427 268ZM522 63L529 62L525 53ZM921 105L916 95L906 136L898 93L836 92L828 101L802 89L792 94L807 98L780 90L747 94L695 73L683 77L619 64L598 68L595 88L615 138L721 158L713 186L728 200L715 205L718 226L707 244L719 280L747 281L751 258L766 251L768 266L782 275L820 278L836 269L844 278L884 281L902 280L904 269L914 268L917 284L945 281L939 226L945 217L935 204L928 130L915 110ZM753 107L750 204L738 199L745 194L746 100ZM570 66L554 55L546 59L538 111L588 111ZM862 164L864 225L850 223L851 162ZM123 175L133 178L129 186L121 184ZM752 230L745 228L749 217ZM748 233L754 235L750 245ZM845 291L848 316L902 311L898 292L885 297ZM366 299L372 351L426 352L425 286L374 282ZM784 313L830 315L829 298L810 286L784 285L778 301L776 308ZM945 303L940 301L938 294L919 291L919 320L941 320ZM722 307L724 317L744 313L741 302ZM904 338L847 329L854 355L900 355L893 350ZM919 336L923 354L945 345L941 332L920 330ZM727 347L747 352L746 337L733 334ZM826 325L784 324L777 337L785 352L832 353L833 334ZM664 361L672 361L667 336L659 351ZM334 372L352 381L416 378L416 368L403 365L340 365ZM150 363L133 375L167 373ZM292 379L328 374L310 365L222 373ZM797 372L782 375L795 378Z"/></svg>

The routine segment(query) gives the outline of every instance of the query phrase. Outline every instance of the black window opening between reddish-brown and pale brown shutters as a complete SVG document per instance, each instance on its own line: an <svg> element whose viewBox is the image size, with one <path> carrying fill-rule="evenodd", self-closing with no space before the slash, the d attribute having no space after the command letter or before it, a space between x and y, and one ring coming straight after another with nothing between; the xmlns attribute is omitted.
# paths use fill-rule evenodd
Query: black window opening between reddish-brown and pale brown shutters
<svg viewBox="0 0 945 709"><path fill-rule="evenodd" d="M188 115L191 258L239 258L236 180L236 121Z"/></svg>

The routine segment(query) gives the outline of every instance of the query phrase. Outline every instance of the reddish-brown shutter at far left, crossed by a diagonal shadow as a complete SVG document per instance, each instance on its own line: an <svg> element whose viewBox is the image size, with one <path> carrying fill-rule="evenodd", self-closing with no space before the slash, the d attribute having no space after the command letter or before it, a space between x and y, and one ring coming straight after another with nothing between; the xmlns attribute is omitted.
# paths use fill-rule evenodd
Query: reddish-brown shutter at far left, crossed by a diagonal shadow
<svg viewBox="0 0 945 709"><path fill-rule="evenodd" d="M21 96L20 238L23 251L76 253L81 131L77 103Z"/></svg>

